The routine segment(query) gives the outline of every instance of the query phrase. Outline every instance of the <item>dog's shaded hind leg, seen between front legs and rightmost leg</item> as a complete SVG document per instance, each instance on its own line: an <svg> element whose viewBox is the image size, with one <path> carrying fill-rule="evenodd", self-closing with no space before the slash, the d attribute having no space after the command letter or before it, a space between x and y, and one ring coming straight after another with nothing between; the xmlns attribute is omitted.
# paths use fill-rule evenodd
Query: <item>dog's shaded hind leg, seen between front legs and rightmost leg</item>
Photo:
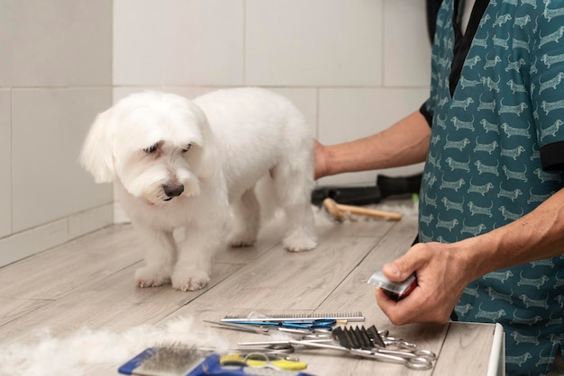
<svg viewBox="0 0 564 376"><path fill-rule="evenodd" d="M252 246L260 226L260 205L254 187L232 202L233 220L229 236L231 246Z"/></svg>

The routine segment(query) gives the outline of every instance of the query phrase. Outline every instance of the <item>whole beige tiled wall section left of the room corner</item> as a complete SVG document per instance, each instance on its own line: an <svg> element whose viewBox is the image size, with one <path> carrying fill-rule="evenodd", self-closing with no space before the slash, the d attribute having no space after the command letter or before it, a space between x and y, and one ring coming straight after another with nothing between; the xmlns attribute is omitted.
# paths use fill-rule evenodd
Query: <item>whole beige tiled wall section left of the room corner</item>
<svg viewBox="0 0 564 376"><path fill-rule="evenodd" d="M0 0L0 266L113 221L77 164L112 104L112 1Z"/></svg>

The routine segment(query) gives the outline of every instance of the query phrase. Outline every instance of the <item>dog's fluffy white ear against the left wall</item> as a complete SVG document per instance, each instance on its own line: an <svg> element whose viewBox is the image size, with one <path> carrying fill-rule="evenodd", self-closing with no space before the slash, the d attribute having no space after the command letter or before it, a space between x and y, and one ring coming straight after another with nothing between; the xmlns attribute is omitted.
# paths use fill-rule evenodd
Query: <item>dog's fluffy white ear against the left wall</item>
<svg viewBox="0 0 564 376"><path fill-rule="evenodd" d="M112 112L109 109L96 116L80 152L80 164L96 183L111 183L115 178Z"/></svg>

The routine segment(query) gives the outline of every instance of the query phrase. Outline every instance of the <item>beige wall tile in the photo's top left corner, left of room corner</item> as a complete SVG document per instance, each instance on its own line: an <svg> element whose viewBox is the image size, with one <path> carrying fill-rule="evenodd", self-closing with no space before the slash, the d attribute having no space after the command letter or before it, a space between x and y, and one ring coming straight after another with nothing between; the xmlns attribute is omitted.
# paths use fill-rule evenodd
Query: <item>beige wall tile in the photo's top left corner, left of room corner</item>
<svg viewBox="0 0 564 376"><path fill-rule="evenodd" d="M112 0L3 0L0 86L111 85Z"/></svg>

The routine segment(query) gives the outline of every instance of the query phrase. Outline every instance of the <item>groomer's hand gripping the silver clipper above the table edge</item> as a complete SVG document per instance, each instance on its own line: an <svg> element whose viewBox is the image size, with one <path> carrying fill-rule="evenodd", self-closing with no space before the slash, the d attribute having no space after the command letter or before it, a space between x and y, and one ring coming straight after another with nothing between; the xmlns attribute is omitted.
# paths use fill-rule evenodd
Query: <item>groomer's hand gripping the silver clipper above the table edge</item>
<svg viewBox="0 0 564 376"><path fill-rule="evenodd" d="M465 261L463 250L454 245L419 243L404 256L384 265L382 270L390 281L405 281L411 273L417 276L418 286L403 300L392 300L376 289L378 306L393 324L448 321L472 278L471 265Z"/></svg>

